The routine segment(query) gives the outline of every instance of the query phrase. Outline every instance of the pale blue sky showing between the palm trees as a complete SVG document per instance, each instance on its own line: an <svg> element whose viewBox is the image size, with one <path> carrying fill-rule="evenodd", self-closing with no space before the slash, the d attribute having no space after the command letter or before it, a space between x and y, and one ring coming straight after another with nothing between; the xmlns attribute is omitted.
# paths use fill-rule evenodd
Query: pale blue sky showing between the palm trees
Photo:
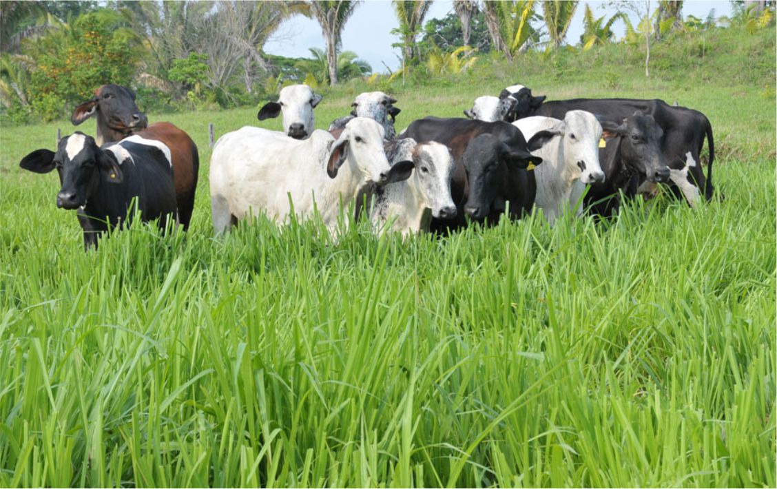
<svg viewBox="0 0 777 489"><path fill-rule="evenodd" d="M585 4L591 5L595 17L607 16L609 18L615 9L608 7L611 2L580 2L575 11L575 17L566 33L566 41L576 44L583 33L583 12ZM650 2L650 9L655 9L658 2ZM541 8L541 7L540 7ZM728 1L700 2L686 1L683 3L683 16L696 16L706 18L710 9L715 9L715 16L731 16L731 4ZM424 23L428 19L442 19L453 11L451 0L436 0L432 3ZM636 16L632 17L632 23L636 25ZM399 42L399 38L392 35L391 30L399 26L389 0L366 0L357 6L354 14L348 19L343 30L343 51L354 51L370 64L373 72L387 71L386 66L392 71L399 69L402 61L399 48L391 47ZM622 37L625 27L621 21L614 25L615 35ZM308 47L324 49L324 40L321 27L313 19L303 16L295 16L288 19L278 30L273 39L264 46L264 51L270 54L278 54L289 58L309 58Z"/></svg>

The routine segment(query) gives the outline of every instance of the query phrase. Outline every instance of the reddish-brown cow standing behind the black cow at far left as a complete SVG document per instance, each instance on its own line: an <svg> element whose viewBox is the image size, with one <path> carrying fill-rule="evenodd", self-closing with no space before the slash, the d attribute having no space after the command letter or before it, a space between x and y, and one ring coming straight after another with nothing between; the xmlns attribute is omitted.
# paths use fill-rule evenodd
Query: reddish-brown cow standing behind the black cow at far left
<svg viewBox="0 0 777 489"><path fill-rule="evenodd" d="M120 141L131 134L164 142L172 156L178 218L183 229L189 229L200 171L197 145L188 134L169 122L157 122L147 127L148 119L135 105L132 90L108 84L100 86L94 93L91 100L75 107L70 121L78 125L96 115L98 145Z"/></svg>

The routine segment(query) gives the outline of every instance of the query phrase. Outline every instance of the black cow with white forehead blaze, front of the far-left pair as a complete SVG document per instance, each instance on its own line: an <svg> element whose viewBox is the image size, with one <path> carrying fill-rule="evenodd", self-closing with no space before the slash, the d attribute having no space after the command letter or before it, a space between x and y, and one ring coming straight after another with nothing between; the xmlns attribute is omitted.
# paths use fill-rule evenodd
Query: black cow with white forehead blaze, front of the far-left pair
<svg viewBox="0 0 777 489"><path fill-rule="evenodd" d="M100 148L93 138L76 132L61 139L57 152L37 149L19 166L35 173L57 169L61 183L57 207L78 209L85 249L96 247L109 227L133 218L128 212L133 199L143 222L159 218L165 229L168 216L176 218L169 149L159 142L124 140Z"/></svg>

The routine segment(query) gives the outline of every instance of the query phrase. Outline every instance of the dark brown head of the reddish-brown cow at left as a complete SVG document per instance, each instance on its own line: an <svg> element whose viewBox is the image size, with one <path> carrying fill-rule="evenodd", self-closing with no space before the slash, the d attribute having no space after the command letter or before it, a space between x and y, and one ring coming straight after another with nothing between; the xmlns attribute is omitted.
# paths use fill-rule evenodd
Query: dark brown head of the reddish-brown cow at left
<svg viewBox="0 0 777 489"><path fill-rule="evenodd" d="M135 105L135 93L131 89L109 83L96 89L94 94L91 100L75 107L70 121L77 126L96 116L100 144L119 141L148 126L148 118Z"/></svg>

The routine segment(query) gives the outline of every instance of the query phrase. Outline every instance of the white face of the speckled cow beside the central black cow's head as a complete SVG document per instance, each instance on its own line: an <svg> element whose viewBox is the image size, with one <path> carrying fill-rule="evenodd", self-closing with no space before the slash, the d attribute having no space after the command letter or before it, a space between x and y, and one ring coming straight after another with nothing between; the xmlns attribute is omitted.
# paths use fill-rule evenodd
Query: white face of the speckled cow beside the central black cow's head
<svg viewBox="0 0 777 489"><path fill-rule="evenodd" d="M451 218L456 206L451 197L454 161L448 147L438 142L421 143L416 146L413 160L413 187L425 207L431 209L434 218Z"/></svg>

